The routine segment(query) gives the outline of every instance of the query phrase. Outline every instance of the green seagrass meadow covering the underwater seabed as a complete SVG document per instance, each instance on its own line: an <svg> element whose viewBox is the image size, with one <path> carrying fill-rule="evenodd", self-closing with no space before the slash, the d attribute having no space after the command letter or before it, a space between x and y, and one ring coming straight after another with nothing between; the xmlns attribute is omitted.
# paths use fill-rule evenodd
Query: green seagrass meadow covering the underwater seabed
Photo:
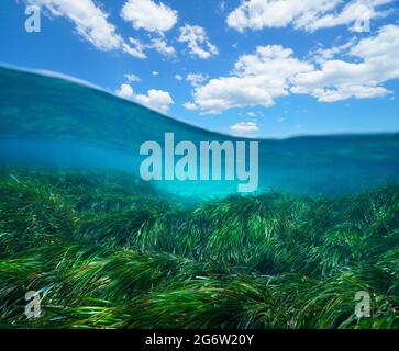
<svg viewBox="0 0 399 351"><path fill-rule="evenodd" d="M399 186L187 204L124 172L0 170L2 328L398 328L398 312Z"/></svg>

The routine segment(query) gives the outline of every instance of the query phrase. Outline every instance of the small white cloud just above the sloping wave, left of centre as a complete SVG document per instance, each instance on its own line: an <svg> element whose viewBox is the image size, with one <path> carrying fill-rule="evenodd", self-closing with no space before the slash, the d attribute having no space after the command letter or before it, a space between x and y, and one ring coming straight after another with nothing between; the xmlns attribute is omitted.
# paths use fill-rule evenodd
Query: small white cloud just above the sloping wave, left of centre
<svg viewBox="0 0 399 351"><path fill-rule="evenodd" d="M168 112L169 106L174 103L167 91L151 89L146 94L136 94L130 84L121 84L115 90L115 94L163 113Z"/></svg>

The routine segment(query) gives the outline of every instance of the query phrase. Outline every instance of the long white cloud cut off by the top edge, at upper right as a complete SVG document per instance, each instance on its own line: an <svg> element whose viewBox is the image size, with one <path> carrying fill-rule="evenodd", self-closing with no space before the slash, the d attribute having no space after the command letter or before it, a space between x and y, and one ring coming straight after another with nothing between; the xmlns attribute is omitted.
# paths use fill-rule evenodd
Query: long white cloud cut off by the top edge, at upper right
<svg viewBox="0 0 399 351"><path fill-rule="evenodd" d="M315 31L336 25L356 25L362 20L386 15L377 8L396 0L242 0L228 16L229 26L245 29L284 27Z"/></svg>

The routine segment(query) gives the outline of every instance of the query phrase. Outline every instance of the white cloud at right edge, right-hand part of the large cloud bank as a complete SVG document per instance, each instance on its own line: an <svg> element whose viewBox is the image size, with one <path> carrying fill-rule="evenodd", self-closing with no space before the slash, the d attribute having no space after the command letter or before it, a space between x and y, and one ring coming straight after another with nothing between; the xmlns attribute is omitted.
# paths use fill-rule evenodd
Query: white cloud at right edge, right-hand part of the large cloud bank
<svg viewBox="0 0 399 351"><path fill-rule="evenodd" d="M331 59L320 69L292 79L292 92L311 94L321 102L348 98L383 97L389 91L380 84L399 78L399 26L386 25L376 36L355 44L348 55L358 63Z"/></svg>

